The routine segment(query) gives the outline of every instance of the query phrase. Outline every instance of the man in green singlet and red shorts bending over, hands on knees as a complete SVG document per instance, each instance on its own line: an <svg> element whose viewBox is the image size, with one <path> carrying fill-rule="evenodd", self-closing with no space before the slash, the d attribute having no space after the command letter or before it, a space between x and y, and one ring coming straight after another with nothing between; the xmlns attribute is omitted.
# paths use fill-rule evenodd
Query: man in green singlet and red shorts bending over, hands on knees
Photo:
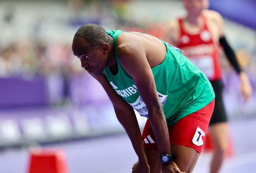
<svg viewBox="0 0 256 173"><path fill-rule="evenodd" d="M138 162L133 173L191 173L214 108L207 77L172 45L145 33L81 26L72 50L110 98ZM134 113L148 120L141 135Z"/></svg>

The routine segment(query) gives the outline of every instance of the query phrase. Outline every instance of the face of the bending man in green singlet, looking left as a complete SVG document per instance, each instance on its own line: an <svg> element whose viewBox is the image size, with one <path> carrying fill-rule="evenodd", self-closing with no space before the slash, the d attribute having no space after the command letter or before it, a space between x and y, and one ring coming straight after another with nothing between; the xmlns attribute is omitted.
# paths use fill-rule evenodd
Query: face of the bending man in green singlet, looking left
<svg viewBox="0 0 256 173"><path fill-rule="evenodd" d="M80 59L82 68L88 73L97 75L103 72L108 62L107 53L104 51L106 47L102 47L102 45L90 46L86 43L81 45L74 45L73 43L72 47L74 55Z"/></svg>

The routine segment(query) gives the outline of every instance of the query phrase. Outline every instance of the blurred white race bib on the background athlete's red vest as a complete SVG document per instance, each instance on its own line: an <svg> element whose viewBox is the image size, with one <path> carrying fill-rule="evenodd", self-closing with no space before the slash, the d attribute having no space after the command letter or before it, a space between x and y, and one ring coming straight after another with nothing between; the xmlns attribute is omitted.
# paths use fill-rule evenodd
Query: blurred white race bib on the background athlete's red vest
<svg viewBox="0 0 256 173"><path fill-rule="evenodd" d="M214 77L214 61L211 56L190 57L189 60L192 61L208 79Z"/></svg>

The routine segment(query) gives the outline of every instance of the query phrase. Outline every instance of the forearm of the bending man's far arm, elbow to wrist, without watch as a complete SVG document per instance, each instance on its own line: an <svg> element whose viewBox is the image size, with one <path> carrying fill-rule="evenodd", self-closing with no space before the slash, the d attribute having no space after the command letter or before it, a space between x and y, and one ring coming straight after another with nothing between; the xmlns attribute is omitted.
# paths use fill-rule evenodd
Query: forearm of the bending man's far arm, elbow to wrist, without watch
<svg viewBox="0 0 256 173"><path fill-rule="evenodd" d="M138 155L139 161L141 163L147 163L140 128L133 108L130 107L127 110L120 110L118 108L114 108L114 110L118 121L120 122L120 124L122 124L126 133L128 134L128 137L130 138L130 141L132 142L132 146L134 148L134 151Z"/></svg>

